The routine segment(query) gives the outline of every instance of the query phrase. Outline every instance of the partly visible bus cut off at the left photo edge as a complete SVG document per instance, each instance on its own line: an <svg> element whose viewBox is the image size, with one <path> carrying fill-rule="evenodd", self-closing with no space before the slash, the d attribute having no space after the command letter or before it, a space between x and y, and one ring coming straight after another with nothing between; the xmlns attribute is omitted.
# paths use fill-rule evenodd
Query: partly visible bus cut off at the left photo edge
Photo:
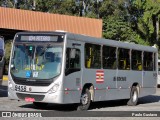
<svg viewBox="0 0 160 120"><path fill-rule="evenodd" d="M3 80L4 55L5 55L4 38L0 36L0 85L2 84Z"/></svg>

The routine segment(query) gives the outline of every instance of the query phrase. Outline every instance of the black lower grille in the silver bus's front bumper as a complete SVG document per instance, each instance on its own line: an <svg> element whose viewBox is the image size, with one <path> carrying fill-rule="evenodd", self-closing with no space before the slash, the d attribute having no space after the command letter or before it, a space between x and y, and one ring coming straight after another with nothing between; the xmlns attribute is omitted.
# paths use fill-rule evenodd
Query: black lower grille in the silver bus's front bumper
<svg viewBox="0 0 160 120"><path fill-rule="evenodd" d="M23 94L23 93L16 93L19 99L25 100L26 97L34 98L35 101L42 101L45 95L31 95L31 94Z"/></svg>

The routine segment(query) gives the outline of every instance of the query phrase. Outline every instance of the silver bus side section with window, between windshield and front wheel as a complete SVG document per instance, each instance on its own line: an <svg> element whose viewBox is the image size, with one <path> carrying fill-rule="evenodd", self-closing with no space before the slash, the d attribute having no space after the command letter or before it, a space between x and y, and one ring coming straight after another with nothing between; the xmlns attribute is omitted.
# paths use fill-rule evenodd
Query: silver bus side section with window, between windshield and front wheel
<svg viewBox="0 0 160 120"><path fill-rule="evenodd" d="M80 45L67 43L64 89L68 90L64 102L76 103L81 95L81 49ZM77 44L77 43L76 43Z"/></svg>

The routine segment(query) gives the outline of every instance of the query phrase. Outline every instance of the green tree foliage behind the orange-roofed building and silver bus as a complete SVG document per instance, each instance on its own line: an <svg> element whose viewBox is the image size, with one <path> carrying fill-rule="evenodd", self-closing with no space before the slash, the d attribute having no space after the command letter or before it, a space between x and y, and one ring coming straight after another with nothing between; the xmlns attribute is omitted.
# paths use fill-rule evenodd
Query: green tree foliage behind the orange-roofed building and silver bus
<svg viewBox="0 0 160 120"><path fill-rule="evenodd" d="M15 7L7 0L8 7ZM35 0L36 11L103 19L103 37L160 46L160 0ZM2 1L0 1L2 4ZM33 0L19 1L20 9L32 10ZM160 27L160 25L159 25ZM159 31L158 37L156 30ZM157 41L156 38L159 38ZM9 61L11 41L6 42Z"/></svg>

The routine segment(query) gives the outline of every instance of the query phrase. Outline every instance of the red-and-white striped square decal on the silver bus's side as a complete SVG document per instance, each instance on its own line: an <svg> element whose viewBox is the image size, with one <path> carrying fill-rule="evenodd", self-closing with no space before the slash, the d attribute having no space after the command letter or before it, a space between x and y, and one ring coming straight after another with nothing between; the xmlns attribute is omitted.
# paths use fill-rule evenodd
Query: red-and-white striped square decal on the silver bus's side
<svg viewBox="0 0 160 120"><path fill-rule="evenodd" d="M97 70L96 71L96 83L103 83L104 82L104 71Z"/></svg>

